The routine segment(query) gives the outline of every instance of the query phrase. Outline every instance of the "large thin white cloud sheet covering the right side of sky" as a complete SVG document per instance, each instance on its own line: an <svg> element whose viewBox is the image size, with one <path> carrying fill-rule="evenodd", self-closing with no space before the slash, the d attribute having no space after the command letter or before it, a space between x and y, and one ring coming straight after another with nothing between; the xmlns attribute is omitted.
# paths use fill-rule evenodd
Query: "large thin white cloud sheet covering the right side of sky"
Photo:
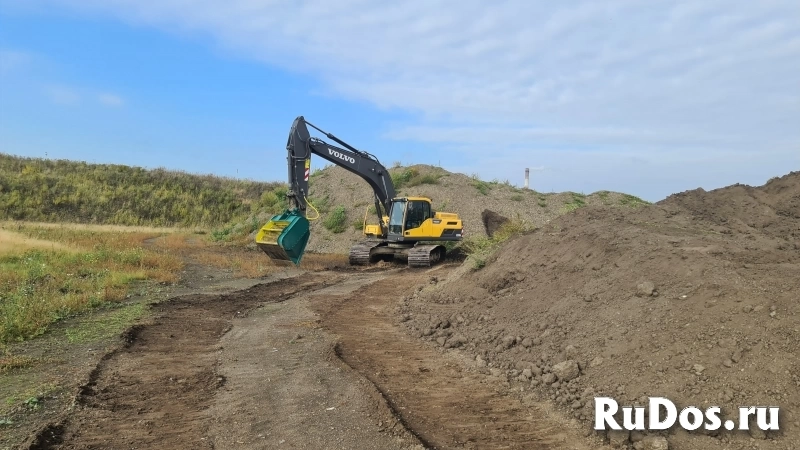
<svg viewBox="0 0 800 450"><path fill-rule="evenodd" d="M393 138L453 149L493 143L558 161L575 157L564 147L595 145L612 160L629 152L653 161L645 173L698 155L731 174L752 164L728 152L797 163L796 0L52 1L210 34L241 55L315 75L345 98L419 113ZM601 165L595 178L619 170ZM684 183L703 179L687 174ZM737 181L715 180L723 179Z"/></svg>

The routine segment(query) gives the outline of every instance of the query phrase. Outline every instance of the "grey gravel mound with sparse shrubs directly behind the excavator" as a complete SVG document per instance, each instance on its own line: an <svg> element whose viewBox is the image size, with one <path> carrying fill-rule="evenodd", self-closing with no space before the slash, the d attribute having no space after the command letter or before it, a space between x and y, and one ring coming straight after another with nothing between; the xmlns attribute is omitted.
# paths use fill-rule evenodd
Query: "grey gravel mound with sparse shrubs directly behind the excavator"
<svg viewBox="0 0 800 450"><path fill-rule="evenodd" d="M410 181L399 184L397 195L428 197L433 201L435 211L458 213L468 236L486 235L481 219L481 212L486 208L538 226L583 206L641 204L641 200L635 197L606 191L591 195L541 193L517 188L511 183L481 181L428 165L396 167L390 172L396 178L402 178L403 174L414 174ZM309 190L309 198L320 210L321 216L319 220L311 222L308 250L347 253L353 243L364 238L361 226L367 209L374 204L372 189L359 176L341 167L331 166L312 175ZM344 207L347 226L341 233L332 233L324 222L337 206ZM309 215L313 216L314 212L309 210ZM377 223L374 213L367 216L369 223ZM260 221L268 219L267 215L259 217Z"/></svg>

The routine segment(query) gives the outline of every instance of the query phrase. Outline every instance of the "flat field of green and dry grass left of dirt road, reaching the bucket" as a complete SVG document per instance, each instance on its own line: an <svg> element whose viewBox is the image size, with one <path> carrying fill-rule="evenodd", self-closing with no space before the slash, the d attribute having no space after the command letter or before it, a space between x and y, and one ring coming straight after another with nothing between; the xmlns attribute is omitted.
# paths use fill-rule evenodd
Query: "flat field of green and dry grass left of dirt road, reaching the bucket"
<svg viewBox="0 0 800 450"><path fill-rule="evenodd" d="M62 318L126 298L133 282L173 283L183 261L259 278L285 266L259 250L147 227L8 223L0 253L0 344L41 334ZM124 231L120 231L124 230ZM174 229L171 229L174 231ZM308 253L300 268L346 266L346 255Z"/></svg>

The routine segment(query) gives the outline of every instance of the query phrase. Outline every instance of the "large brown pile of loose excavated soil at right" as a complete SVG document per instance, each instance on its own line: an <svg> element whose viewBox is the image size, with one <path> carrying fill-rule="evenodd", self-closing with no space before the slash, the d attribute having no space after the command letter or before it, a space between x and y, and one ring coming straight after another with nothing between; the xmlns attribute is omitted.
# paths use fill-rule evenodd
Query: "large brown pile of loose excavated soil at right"
<svg viewBox="0 0 800 450"><path fill-rule="evenodd" d="M723 423L739 406L779 406L778 432L659 433L672 449L800 448L799 274L793 172L637 209L576 210L507 241L482 269L468 259L432 279L398 321L587 430L600 395L720 406ZM638 432L597 437L644 447Z"/></svg>

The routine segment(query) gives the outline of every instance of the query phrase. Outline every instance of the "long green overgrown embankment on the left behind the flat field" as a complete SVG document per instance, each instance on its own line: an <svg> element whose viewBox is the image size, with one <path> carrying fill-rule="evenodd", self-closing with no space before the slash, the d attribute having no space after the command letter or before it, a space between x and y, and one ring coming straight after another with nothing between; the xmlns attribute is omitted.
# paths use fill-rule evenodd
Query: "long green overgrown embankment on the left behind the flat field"
<svg viewBox="0 0 800 450"><path fill-rule="evenodd" d="M0 220L210 228L272 208L282 186L0 153Z"/></svg>

